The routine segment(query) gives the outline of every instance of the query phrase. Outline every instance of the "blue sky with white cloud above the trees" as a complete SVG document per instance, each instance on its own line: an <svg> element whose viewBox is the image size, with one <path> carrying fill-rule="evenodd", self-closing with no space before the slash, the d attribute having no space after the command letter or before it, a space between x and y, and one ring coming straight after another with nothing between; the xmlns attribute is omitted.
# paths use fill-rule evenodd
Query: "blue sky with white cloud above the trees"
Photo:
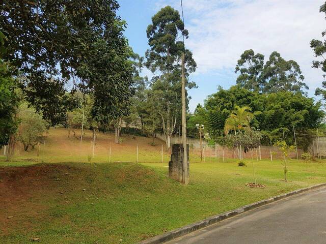
<svg viewBox="0 0 326 244"><path fill-rule="evenodd" d="M172 6L181 13L179 0L118 0L118 14L126 20L125 36L133 51L144 56L148 49L146 28L160 8ZM324 0L183 0L186 48L193 52L197 70L189 79L197 89L189 90L189 110L203 104L218 86L235 85L234 69L241 53L253 49L265 55L278 51L295 60L314 96L321 86L322 71L311 68L312 39L321 39L326 20L319 7ZM151 77L149 71L143 72ZM316 98L318 100L319 98Z"/></svg>

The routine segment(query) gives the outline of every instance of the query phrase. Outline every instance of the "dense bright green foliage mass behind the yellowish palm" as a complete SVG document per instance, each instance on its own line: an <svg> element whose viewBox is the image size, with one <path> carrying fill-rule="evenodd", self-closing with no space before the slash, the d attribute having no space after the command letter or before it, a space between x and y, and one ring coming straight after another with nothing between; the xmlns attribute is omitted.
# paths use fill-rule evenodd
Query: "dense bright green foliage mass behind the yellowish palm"
<svg viewBox="0 0 326 244"><path fill-rule="evenodd" d="M205 101L207 113L207 129L211 136L222 141L225 121L235 106L249 106L254 114L250 127L259 129L264 144L270 145L280 138L293 143L293 125L297 133L305 133L317 128L321 123L324 112L321 104L313 98L307 98L300 93L278 92L259 94L239 86L228 90L222 88ZM309 133L305 133L309 134ZM311 138L297 138L303 148L310 144Z"/></svg>

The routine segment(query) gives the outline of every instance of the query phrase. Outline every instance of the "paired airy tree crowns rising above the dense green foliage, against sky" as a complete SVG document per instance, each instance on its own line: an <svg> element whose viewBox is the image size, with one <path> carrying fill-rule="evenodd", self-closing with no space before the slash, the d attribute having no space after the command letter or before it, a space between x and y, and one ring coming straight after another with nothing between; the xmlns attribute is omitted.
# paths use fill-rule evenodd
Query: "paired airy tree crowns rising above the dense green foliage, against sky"
<svg viewBox="0 0 326 244"><path fill-rule="evenodd" d="M253 49L244 51L235 67L240 72L237 84L241 87L261 93L291 91L303 93L309 87L304 83L300 66L294 60L285 60L274 51L264 65L264 55L255 54Z"/></svg>

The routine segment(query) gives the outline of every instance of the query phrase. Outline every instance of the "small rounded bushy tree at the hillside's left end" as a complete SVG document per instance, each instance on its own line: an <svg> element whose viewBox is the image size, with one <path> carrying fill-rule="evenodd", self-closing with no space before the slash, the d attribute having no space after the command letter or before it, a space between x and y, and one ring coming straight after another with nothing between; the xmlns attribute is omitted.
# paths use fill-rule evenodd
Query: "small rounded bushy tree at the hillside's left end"
<svg viewBox="0 0 326 244"><path fill-rule="evenodd" d="M46 131L47 123L40 114L35 113L33 109L28 109L26 104L19 107L17 140L24 145L24 150L29 147L34 148L37 143L43 141L43 133Z"/></svg>

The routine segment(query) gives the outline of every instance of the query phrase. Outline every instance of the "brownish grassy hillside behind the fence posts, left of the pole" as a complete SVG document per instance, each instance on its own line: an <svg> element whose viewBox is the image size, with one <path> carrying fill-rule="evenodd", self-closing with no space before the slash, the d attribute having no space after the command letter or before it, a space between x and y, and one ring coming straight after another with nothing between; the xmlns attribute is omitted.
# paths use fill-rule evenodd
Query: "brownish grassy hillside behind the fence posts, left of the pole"
<svg viewBox="0 0 326 244"><path fill-rule="evenodd" d="M80 130L75 130L76 135L80 135ZM161 162L161 148L163 145L164 161L168 162L170 156L165 146L165 142L159 139L154 140L155 145L151 145L152 138L121 135L121 144L114 142L114 133L97 132L94 146L93 162L108 162L111 146L111 162L136 162L137 145L139 162ZM45 143L40 145L39 157L37 157L37 147L33 150L24 151L23 145L17 143L14 161L30 162L88 162L88 157L93 154L92 131L85 130L83 142L64 128L51 128L46 134ZM3 151L2 151L3 155Z"/></svg>

